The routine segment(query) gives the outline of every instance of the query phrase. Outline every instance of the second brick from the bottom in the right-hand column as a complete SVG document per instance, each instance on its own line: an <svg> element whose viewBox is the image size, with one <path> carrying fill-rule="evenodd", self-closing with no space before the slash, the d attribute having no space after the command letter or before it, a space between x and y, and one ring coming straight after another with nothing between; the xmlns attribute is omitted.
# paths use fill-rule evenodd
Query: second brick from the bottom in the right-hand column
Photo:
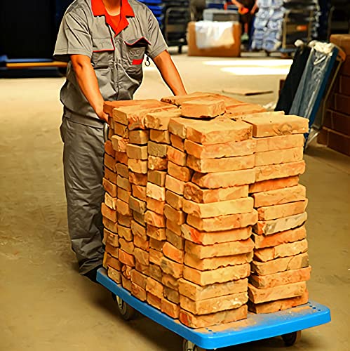
<svg viewBox="0 0 350 351"><path fill-rule="evenodd" d="M267 303L283 298L295 298L296 296L302 296L305 291L307 291L306 282L281 285L269 289L257 289L255 286L248 284L249 300L253 303Z"/></svg>

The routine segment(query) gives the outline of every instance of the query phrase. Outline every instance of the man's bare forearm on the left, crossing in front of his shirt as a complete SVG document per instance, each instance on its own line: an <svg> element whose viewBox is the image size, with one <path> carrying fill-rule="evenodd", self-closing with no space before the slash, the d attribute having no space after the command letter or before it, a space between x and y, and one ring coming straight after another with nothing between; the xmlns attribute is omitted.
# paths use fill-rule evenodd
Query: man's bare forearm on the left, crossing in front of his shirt
<svg viewBox="0 0 350 351"><path fill-rule="evenodd" d="M90 58L86 55L71 55L72 65L76 74L76 80L84 96L93 107L97 116L108 121L108 115L103 112L104 100L98 87L98 81L91 65Z"/></svg>

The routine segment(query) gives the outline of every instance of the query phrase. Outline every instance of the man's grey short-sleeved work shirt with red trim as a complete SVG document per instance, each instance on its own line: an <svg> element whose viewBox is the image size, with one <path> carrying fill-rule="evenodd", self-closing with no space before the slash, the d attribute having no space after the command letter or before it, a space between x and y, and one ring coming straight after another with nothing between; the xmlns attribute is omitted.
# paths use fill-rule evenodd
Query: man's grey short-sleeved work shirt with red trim
<svg viewBox="0 0 350 351"><path fill-rule="evenodd" d="M158 21L144 4L128 0L135 17L127 17L128 26L115 34L105 15L93 14L92 1L102 0L75 0L69 6L60 25L54 58L68 62L67 80L60 93L65 116L95 126L100 120L79 88L70 55L90 58L104 100L130 100L142 82L144 54L155 58L168 47Z"/></svg>

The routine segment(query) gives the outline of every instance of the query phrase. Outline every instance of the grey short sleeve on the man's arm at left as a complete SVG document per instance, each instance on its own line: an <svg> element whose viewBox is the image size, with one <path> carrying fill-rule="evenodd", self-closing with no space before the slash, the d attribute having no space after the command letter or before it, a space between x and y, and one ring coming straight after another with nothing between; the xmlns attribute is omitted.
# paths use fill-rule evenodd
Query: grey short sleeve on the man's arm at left
<svg viewBox="0 0 350 351"><path fill-rule="evenodd" d="M65 13L62 19L53 57L59 61L69 61L70 55L86 55L91 58L93 42L86 18L77 13Z"/></svg>

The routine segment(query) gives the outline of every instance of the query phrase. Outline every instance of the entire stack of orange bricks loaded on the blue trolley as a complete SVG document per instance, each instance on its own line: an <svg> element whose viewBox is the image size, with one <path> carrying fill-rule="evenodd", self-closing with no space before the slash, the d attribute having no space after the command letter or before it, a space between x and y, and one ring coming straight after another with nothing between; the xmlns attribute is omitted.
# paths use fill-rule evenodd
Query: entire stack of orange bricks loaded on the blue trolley
<svg viewBox="0 0 350 351"><path fill-rule="evenodd" d="M261 296L300 281L295 262L307 262L307 200L297 185L303 138L285 134L304 133L306 120L262 117L262 107L208 93L109 102L105 111L111 117L102 204L109 277L193 328L247 317L253 255L253 303L267 301L252 297L255 286ZM247 114L252 117L234 120ZM284 264L277 272L290 270L281 279L291 284L276 283L273 269L260 269L264 261ZM278 300L290 297L281 293Z"/></svg>

